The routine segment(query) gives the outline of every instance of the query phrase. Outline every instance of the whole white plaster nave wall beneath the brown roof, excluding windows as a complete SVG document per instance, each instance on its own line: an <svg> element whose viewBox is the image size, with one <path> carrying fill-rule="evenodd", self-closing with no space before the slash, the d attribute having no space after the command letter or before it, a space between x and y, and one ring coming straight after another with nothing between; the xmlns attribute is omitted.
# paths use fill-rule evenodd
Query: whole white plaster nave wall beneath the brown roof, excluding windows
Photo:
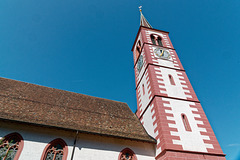
<svg viewBox="0 0 240 160"><path fill-rule="evenodd" d="M0 122L0 138L12 132L18 132L24 139L19 160L40 160L46 145L56 138L62 138L67 143L67 160L71 158L74 132ZM155 144L80 133L74 160L117 160L119 153L127 147L135 152L138 160L155 159Z"/></svg>

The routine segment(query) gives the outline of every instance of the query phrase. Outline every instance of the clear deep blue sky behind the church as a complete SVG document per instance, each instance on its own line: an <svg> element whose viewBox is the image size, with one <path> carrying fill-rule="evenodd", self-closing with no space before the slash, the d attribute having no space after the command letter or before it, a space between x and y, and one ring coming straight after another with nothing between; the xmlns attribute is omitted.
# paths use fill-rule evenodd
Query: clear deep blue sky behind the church
<svg viewBox="0 0 240 160"><path fill-rule="evenodd" d="M229 160L240 159L239 0L1 0L0 76L128 103L138 6L172 43Z"/></svg>

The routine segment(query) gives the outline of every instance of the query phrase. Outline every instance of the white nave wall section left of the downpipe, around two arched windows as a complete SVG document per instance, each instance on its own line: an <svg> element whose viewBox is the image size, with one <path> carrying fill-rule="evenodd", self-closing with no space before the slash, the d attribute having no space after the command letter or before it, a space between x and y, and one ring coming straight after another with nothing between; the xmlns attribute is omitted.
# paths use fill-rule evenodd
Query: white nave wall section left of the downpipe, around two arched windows
<svg viewBox="0 0 240 160"><path fill-rule="evenodd" d="M23 126L0 123L0 137L4 137L10 133L17 132L24 139L24 147L19 160L40 160L46 145L56 138L62 138L68 145L68 159L72 152L72 144L74 139L69 137L65 132L53 132L47 128L37 128L32 126ZM61 134L60 134L61 133Z"/></svg>

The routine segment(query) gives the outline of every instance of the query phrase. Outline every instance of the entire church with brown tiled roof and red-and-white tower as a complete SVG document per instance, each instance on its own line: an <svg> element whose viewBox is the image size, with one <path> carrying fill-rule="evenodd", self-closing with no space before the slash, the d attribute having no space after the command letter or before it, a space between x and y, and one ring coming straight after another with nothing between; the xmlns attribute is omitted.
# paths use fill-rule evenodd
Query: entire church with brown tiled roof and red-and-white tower
<svg viewBox="0 0 240 160"><path fill-rule="evenodd" d="M126 103L0 78L0 160L225 160L169 32L140 9Z"/></svg>

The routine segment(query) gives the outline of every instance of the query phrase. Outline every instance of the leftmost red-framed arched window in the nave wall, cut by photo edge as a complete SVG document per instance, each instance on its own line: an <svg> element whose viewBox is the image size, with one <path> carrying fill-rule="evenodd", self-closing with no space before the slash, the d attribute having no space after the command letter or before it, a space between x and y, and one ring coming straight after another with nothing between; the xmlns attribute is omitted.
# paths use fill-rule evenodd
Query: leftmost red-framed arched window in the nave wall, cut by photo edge
<svg viewBox="0 0 240 160"><path fill-rule="evenodd" d="M23 138L18 133L11 133L0 140L0 159L18 160L23 149Z"/></svg>

